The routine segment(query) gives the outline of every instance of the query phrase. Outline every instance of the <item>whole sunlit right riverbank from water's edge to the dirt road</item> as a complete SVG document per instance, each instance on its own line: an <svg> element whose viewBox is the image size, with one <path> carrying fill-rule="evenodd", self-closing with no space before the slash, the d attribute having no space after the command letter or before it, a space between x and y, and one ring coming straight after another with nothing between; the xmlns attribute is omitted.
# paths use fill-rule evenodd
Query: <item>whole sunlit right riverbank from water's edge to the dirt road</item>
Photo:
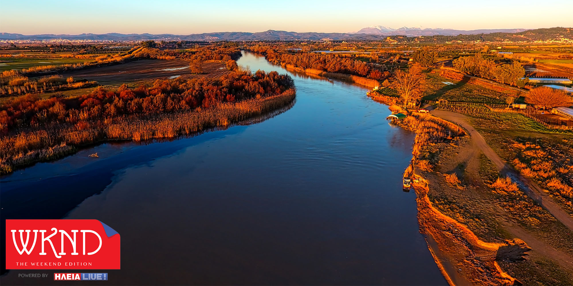
<svg viewBox="0 0 573 286"><path fill-rule="evenodd" d="M505 175L465 132L435 140L419 127L426 120L454 125L430 114L399 125L417 132L406 172L417 181L420 231L449 283L571 284L570 229L517 187L496 184Z"/></svg>

